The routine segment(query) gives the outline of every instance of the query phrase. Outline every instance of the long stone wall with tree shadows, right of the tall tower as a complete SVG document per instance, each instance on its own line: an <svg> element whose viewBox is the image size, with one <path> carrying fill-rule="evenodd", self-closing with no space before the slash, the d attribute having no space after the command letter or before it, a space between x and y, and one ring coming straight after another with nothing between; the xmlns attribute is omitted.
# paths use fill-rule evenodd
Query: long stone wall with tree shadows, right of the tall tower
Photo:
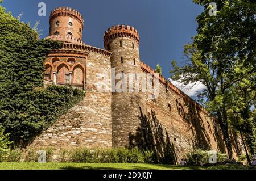
<svg viewBox="0 0 256 181"><path fill-rule="evenodd" d="M137 108L141 123L135 136L129 136L130 142L142 148L155 149L159 158L172 157L175 161L183 158L187 151L197 148L225 153L217 120L192 99L163 83L158 85L159 95L155 99L150 99L148 93L141 93L141 104ZM236 157L241 151L241 141L236 135L233 137Z"/></svg>

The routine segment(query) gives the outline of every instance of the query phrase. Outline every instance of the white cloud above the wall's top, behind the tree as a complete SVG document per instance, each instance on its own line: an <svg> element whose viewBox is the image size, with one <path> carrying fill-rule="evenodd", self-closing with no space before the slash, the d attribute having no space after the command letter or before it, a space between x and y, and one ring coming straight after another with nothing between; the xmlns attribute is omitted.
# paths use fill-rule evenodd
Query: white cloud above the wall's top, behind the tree
<svg viewBox="0 0 256 181"><path fill-rule="evenodd" d="M173 85L178 87L181 91L183 91L188 96L196 96L199 92L206 89L205 85L201 84L200 82L196 83L189 83L188 85L183 85L179 81L174 81L172 79L169 79Z"/></svg>

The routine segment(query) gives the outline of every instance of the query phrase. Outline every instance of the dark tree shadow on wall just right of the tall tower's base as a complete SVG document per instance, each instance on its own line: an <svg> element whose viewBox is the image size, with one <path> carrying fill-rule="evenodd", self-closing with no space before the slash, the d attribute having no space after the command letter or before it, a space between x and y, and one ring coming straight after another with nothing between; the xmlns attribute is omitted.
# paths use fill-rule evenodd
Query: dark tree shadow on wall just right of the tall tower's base
<svg viewBox="0 0 256 181"><path fill-rule="evenodd" d="M139 119L141 123L136 134L130 133L129 135L130 146L138 146L143 150L154 150L156 162L176 164L177 155L174 144L170 141L167 130L157 119L155 111L151 110L151 113L146 115L140 107Z"/></svg>

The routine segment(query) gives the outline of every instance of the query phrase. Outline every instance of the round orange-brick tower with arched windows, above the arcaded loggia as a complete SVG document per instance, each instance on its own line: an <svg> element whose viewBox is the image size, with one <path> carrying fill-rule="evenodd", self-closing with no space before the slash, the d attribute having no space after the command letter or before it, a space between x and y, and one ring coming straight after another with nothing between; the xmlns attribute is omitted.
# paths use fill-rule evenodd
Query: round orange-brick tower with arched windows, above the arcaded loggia
<svg viewBox="0 0 256 181"><path fill-rule="evenodd" d="M82 15L70 7L58 7L51 12L49 19L49 36L60 35L82 40L84 19Z"/></svg>

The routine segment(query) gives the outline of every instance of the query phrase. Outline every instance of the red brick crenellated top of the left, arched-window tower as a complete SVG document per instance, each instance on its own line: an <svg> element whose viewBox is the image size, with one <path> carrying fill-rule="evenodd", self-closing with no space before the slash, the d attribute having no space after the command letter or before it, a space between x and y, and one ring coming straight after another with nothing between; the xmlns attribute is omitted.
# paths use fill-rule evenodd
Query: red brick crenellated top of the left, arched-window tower
<svg viewBox="0 0 256 181"><path fill-rule="evenodd" d="M50 15L50 22L53 18L56 18L56 16L69 16L71 18L74 18L78 20L82 28L84 28L84 18L82 18L82 15L79 11L72 9L71 7L57 7L56 9L52 10Z"/></svg>

